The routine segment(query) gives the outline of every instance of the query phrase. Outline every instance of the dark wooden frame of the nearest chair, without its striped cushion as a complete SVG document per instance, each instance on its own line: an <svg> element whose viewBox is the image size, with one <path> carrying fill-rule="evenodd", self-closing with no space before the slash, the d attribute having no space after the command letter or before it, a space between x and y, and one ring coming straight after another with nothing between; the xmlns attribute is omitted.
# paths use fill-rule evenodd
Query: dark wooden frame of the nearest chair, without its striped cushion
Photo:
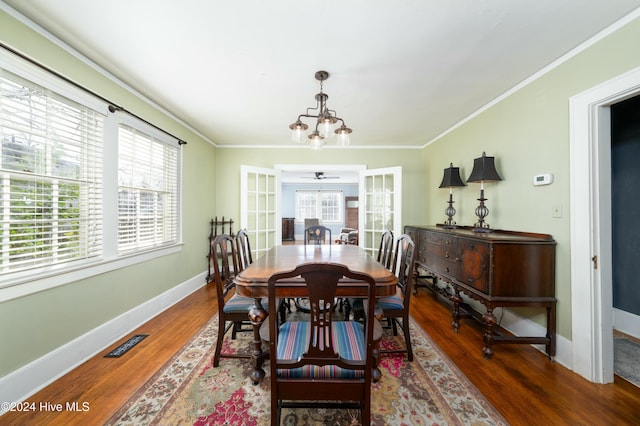
<svg viewBox="0 0 640 426"><path fill-rule="evenodd" d="M345 405L358 407L362 424L370 424L371 417L371 381L375 367L375 339L373 316L375 306L375 280L367 274L351 271L348 267L335 263L309 263L296 267L293 271L277 273L269 279L269 298L281 297L278 282L301 276L306 283L310 306L310 327L312 330L309 346L298 359L279 359L279 330L276 321L276 307L269 305L269 349L271 375L271 424L280 424L282 407L299 407ZM364 359L347 360L335 351L330 336L331 330L338 325L333 321L334 304L338 282L346 277L349 280L362 281L367 287L367 300L370 306L366 325L348 322L351 325L364 327L366 350ZM288 324L292 324L291 322ZM347 324L347 323L343 323ZM360 378L291 378L282 377L280 371L304 366L322 368L337 366L345 370L360 371ZM324 402L323 402L324 401ZM338 403L336 403L339 402ZM354 405L355 404L355 405Z"/></svg>

